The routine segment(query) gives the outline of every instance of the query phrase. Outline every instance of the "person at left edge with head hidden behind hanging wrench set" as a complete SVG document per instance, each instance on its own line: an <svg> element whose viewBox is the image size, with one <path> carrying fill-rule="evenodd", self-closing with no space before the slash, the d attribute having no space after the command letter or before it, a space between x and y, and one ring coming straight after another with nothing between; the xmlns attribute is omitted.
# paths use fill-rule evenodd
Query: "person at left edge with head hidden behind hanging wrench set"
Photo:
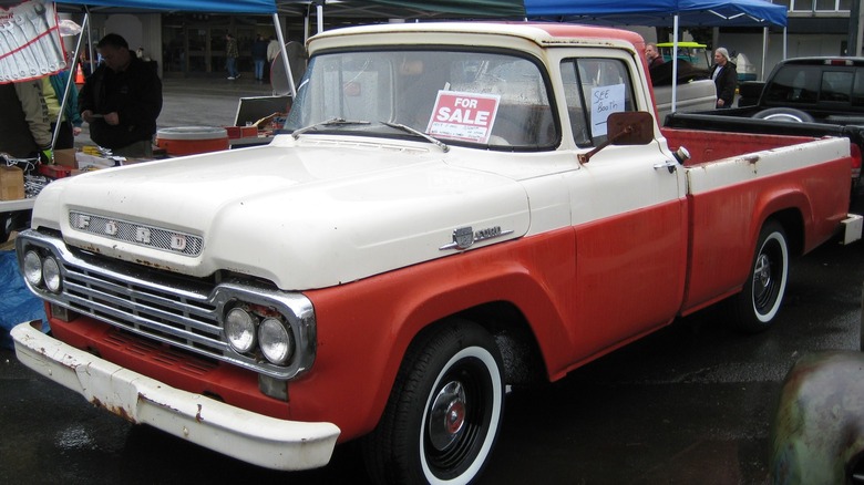
<svg viewBox="0 0 864 485"><path fill-rule="evenodd" d="M51 123L42 97L42 81L0 84L0 152L50 163Z"/></svg>

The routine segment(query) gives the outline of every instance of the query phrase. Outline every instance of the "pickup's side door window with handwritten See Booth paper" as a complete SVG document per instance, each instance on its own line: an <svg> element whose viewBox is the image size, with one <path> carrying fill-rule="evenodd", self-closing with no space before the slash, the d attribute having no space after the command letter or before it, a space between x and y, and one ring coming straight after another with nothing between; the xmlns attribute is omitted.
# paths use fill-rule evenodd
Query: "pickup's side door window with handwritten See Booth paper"
<svg viewBox="0 0 864 485"><path fill-rule="evenodd" d="M627 65L617 59L584 58L565 60L560 68L574 142L604 143L609 114L635 110Z"/></svg>

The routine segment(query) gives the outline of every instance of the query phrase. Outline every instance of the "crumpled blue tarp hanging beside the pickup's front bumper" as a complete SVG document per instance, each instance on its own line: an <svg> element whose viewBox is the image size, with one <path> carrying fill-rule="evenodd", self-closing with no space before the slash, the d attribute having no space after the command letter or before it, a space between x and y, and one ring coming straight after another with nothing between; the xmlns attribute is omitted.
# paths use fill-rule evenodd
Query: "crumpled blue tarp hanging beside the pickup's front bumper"
<svg viewBox="0 0 864 485"><path fill-rule="evenodd" d="M0 251L0 347L12 348L9 331L18 323L42 320L48 331L48 317L42 300L27 289L14 251Z"/></svg>

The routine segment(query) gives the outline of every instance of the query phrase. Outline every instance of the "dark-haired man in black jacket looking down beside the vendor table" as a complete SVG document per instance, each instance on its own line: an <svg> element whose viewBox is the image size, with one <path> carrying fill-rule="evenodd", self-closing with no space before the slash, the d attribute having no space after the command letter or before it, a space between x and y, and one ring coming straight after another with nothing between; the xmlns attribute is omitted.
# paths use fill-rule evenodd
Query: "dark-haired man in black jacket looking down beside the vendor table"
<svg viewBox="0 0 864 485"><path fill-rule="evenodd" d="M79 96L90 138L114 155L150 158L162 112L156 64L138 59L116 33L102 38L96 48L104 62L86 79Z"/></svg>

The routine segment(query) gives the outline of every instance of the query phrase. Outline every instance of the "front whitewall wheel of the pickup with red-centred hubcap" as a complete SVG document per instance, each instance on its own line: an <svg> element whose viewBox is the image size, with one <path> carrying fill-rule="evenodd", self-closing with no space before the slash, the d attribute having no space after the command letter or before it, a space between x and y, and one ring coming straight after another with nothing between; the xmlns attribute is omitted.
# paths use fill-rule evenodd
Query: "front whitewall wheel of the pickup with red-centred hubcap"
<svg viewBox="0 0 864 485"><path fill-rule="evenodd" d="M502 360L476 323L454 320L409 348L378 427L364 438L378 483L464 484L476 478L504 410Z"/></svg>

